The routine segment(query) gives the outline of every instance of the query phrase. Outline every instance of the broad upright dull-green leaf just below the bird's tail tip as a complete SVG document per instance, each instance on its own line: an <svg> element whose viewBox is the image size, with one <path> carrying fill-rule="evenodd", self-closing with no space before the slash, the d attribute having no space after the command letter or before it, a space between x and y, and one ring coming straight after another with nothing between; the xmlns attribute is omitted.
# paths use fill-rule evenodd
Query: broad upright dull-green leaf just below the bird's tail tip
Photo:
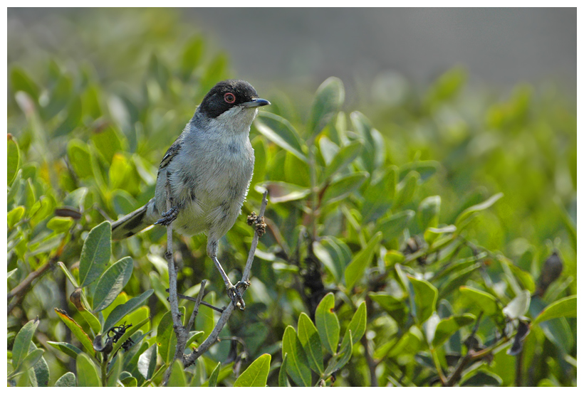
<svg viewBox="0 0 584 394"><path fill-rule="evenodd" d="M112 225L105 221L91 229L81 250L79 280L85 287L98 279L112 254Z"/></svg>

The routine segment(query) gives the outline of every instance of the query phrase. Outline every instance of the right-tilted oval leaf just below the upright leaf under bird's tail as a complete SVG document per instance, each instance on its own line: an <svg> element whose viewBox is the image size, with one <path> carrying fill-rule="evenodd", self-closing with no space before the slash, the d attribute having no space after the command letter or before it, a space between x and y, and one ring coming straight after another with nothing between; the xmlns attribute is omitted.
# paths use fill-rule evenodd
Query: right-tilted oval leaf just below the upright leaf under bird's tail
<svg viewBox="0 0 584 394"><path fill-rule="evenodd" d="M93 312L107 308L132 277L134 263L132 257L124 257L115 262L101 275L93 294Z"/></svg>

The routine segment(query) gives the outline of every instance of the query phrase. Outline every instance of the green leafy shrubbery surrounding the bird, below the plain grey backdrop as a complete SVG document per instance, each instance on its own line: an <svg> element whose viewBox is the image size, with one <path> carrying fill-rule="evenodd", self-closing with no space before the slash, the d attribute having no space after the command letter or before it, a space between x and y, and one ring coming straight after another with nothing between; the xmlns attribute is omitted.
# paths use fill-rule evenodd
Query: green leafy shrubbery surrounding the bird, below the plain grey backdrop
<svg viewBox="0 0 584 394"><path fill-rule="evenodd" d="M152 197L194 106L236 74L173 12L74 15L9 29L9 385L167 368L170 385L576 385L576 117L552 85L382 73L361 112L336 78L308 110L260 92L248 307L184 370L165 230L111 243L107 220ZM242 215L221 241L231 277L251 236ZM227 302L204 235L175 243L179 292L209 279L204 299ZM217 319L202 308L192 344Z"/></svg>

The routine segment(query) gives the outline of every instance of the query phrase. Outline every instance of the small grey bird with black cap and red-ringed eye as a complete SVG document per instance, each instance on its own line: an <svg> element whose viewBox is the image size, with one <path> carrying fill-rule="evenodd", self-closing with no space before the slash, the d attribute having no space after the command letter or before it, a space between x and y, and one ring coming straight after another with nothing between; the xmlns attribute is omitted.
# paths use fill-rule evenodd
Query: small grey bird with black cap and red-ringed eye
<svg viewBox="0 0 584 394"><path fill-rule="evenodd" d="M231 284L217 260L217 247L241 213L254 171L249 127L258 108L269 104L244 80L217 83L162 158L154 198L112 223L112 238L127 238L152 224L170 223L182 235L206 233L207 255L223 277L229 297L241 308L239 288L245 284Z"/></svg>

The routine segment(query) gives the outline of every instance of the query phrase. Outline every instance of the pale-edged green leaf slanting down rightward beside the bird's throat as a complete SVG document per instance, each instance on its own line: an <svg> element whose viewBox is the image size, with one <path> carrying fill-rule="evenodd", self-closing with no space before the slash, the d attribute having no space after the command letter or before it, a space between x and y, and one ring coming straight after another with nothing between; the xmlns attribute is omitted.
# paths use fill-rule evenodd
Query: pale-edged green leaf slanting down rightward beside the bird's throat
<svg viewBox="0 0 584 394"><path fill-rule="evenodd" d="M302 152L301 139L298 132L288 120L270 112L259 112L259 117L254 124L256 129L274 144L289 151L294 156L308 163L308 159Z"/></svg>

